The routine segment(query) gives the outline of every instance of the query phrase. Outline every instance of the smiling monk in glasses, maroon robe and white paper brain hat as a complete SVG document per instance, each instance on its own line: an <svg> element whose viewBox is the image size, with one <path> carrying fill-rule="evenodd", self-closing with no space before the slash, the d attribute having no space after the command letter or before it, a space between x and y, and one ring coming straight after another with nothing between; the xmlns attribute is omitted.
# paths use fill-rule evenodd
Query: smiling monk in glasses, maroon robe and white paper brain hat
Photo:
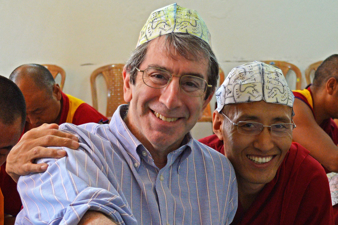
<svg viewBox="0 0 338 225"><path fill-rule="evenodd" d="M282 71L257 61L236 67L216 97L215 135L200 141L235 168L239 202L232 225L333 224L324 169L291 143L294 96Z"/></svg>

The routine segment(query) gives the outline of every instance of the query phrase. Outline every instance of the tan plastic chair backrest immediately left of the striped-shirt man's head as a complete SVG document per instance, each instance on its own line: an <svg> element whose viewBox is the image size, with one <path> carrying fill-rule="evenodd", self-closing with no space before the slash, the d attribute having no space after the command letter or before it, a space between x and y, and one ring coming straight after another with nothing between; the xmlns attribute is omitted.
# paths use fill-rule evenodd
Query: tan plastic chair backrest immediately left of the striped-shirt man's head
<svg viewBox="0 0 338 225"><path fill-rule="evenodd" d="M117 107L126 104L123 98L123 72L124 64L110 64L95 69L90 76L92 89L93 107L98 110L98 100L96 91L96 78L102 75L107 85L107 110L106 116L111 118Z"/></svg>

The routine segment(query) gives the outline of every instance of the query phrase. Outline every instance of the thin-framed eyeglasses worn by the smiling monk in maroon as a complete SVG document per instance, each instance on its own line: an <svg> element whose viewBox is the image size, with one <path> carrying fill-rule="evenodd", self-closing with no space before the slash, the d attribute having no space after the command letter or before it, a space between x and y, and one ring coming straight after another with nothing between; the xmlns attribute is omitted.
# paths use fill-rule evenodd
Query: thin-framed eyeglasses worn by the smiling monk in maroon
<svg viewBox="0 0 338 225"><path fill-rule="evenodd" d="M231 121L224 113L222 113L233 125L237 126L237 131L240 134L246 135L257 135L261 133L264 128L262 123L258 122L250 122L250 121L240 121L238 123L234 123ZM292 130L296 127L293 120L292 123L275 123L271 126L266 126L270 128L271 135L277 137L284 137L292 134Z"/></svg>

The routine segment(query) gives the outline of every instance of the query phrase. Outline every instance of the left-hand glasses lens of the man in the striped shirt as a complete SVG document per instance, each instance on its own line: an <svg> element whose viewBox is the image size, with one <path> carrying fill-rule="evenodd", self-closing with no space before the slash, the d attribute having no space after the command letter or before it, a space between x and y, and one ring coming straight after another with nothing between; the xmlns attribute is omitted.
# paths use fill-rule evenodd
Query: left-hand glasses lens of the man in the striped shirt
<svg viewBox="0 0 338 225"><path fill-rule="evenodd" d="M165 87L171 78L168 71L159 68L147 68L143 72L143 82L152 88Z"/></svg>

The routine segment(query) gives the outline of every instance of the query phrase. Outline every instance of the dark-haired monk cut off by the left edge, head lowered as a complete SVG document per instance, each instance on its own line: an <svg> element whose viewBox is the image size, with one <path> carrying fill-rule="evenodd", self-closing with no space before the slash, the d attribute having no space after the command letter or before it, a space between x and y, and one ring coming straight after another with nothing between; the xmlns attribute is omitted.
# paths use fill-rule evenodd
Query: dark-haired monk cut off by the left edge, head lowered
<svg viewBox="0 0 338 225"><path fill-rule="evenodd" d="M18 142L25 120L26 105L20 89L13 81L0 76L0 165L6 161L9 151ZM14 224L14 217L4 218L4 198L1 191L0 224Z"/></svg>

